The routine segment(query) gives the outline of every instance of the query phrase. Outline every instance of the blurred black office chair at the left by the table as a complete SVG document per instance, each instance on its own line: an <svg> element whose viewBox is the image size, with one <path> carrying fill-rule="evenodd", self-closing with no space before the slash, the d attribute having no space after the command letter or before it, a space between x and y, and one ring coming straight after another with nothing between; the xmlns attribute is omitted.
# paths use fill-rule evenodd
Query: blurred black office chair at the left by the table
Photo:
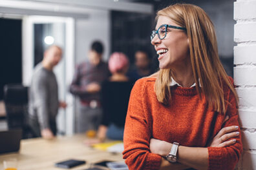
<svg viewBox="0 0 256 170"><path fill-rule="evenodd" d="M4 101L8 129L23 129L23 138L34 137L27 123L28 87L21 84L6 84Z"/></svg>

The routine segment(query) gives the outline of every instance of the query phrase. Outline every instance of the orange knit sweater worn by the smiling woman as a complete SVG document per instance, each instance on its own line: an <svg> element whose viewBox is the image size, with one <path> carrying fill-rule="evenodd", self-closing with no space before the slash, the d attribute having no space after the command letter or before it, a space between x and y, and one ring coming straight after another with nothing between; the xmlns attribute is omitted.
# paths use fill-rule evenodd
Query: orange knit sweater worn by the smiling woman
<svg viewBox="0 0 256 170"><path fill-rule="evenodd" d="M229 119L222 125L225 115L209 110L195 87L173 86L170 106L160 104L154 91L155 80L140 79L131 92L123 135L123 158L130 170L160 168L161 156L150 152L150 138L207 147L222 127L239 126L235 96L227 86L223 89L225 100L230 103L226 104ZM241 152L240 136L232 146L208 147L209 169L234 169Z"/></svg>

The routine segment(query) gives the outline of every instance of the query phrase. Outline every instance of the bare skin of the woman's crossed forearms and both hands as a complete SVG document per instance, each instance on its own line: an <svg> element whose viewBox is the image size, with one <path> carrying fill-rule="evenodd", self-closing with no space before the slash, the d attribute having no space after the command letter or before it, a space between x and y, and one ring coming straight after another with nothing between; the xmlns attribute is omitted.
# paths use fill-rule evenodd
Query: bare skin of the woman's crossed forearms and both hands
<svg viewBox="0 0 256 170"><path fill-rule="evenodd" d="M224 127L219 133L213 138L209 147L226 147L231 146L237 142L237 140L229 140L239 136L238 126ZM173 144L165 142L163 140L157 140L151 138L150 140L150 151L162 156L160 169L187 169L193 167L195 169L208 169L208 148L207 147L178 147L178 163L171 164L165 160L164 156L171 151Z"/></svg>

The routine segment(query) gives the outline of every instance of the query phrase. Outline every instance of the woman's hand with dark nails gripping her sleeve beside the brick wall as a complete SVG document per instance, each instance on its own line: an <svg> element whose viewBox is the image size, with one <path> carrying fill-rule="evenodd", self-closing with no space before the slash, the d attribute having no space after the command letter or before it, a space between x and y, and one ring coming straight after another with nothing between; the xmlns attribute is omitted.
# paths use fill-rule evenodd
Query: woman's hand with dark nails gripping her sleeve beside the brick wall
<svg viewBox="0 0 256 170"><path fill-rule="evenodd" d="M228 120L228 116L226 116L224 122ZM224 124L223 122L223 124ZM239 136L239 127L238 126L229 126L222 128L219 133L213 138L211 143L208 145L210 147L225 147L231 146L237 142L237 140L229 140L229 138L235 138Z"/></svg>

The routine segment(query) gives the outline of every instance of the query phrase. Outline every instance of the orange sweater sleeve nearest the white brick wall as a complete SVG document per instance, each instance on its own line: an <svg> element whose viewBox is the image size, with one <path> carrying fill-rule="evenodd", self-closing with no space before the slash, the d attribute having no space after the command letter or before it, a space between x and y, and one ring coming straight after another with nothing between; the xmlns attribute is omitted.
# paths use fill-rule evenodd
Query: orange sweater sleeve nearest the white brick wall
<svg viewBox="0 0 256 170"><path fill-rule="evenodd" d="M228 102L229 104L226 111L226 115L229 116L229 119L225 122L225 124L223 124L222 128L228 126L239 126L237 104L235 101L235 95L233 95L232 92L230 92ZM208 147L209 169L235 168L235 165L239 161L239 156L242 153L241 135L239 135L239 137L237 138L231 139L236 139L237 142L228 147Z"/></svg>

